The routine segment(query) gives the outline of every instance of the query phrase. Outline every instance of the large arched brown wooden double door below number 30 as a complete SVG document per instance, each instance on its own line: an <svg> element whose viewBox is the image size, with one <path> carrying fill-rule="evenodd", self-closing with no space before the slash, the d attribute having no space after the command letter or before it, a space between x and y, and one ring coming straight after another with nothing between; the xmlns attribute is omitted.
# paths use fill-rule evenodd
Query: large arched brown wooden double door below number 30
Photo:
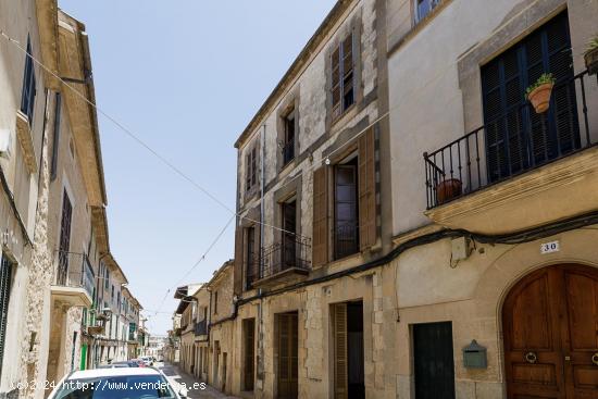
<svg viewBox="0 0 598 399"><path fill-rule="evenodd" d="M504 300L502 326L509 398L598 398L598 270L527 275Z"/></svg>

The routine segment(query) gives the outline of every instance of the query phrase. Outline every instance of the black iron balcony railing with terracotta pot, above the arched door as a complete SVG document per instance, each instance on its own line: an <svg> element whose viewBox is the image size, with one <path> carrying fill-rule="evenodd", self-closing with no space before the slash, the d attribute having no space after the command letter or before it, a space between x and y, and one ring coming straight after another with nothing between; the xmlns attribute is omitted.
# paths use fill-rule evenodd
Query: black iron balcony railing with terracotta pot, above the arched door
<svg viewBox="0 0 598 399"><path fill-rule="evenodd" d="M593 98L589 107L586 98L597 87L589 78L585 71L556 85L548 112L538 114L525 101L443 148L424 152L427 209L597 145L598 99Z"/></svg>

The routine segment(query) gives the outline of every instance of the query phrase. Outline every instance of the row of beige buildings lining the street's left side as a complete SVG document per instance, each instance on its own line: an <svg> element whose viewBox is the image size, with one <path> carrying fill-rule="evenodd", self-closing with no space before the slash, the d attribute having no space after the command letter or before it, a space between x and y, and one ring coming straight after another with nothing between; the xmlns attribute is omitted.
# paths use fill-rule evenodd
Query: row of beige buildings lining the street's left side
<svg viewBox="0 0 598 399"><path fill-rule="evenodd" d="M52 0L0 10L0 396L41 398L43 382L99 364L104 273L119 290L126 277L108 242L85 27Z"/></svg>

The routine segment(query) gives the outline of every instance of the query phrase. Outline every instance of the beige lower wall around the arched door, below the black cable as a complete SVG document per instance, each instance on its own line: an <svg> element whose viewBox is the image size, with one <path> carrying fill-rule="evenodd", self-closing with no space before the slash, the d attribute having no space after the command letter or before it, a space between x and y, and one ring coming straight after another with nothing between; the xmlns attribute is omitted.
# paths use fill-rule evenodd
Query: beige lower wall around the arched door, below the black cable
<svg viewBox="0 0 598 399"><path fill-rule="evenodd" d="M520 245L476 244L472 254L452 263L450 240L416 247L393 262L397 267L399 307L397 348L398 392L413 396L412 338L414 323L452 322L458 398L501 398L502 301L523 276L543 266L575 263L598 267L595 226ZM540 244L559 240L560 251L540 254ZM472 246L473 248L473 246ZM488 350L488 367L465 369L461 349L472 339Z"/></svg>

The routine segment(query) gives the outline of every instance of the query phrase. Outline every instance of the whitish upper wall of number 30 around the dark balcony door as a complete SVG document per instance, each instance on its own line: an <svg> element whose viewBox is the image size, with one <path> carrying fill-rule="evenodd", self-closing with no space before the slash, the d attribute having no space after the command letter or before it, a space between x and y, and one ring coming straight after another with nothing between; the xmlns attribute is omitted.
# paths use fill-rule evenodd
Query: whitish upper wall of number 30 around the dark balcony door
<svg viewBox="0 0 598 399"><path fill-rule="evenodd" d="M482 126L479 67L555 13L569 9L574 68L584 68L596 1L444 1L412 26L408 0L388 0L388 60L394 233L428 223L422 154ZM588 98L596 97L596 87ZM598 101L598 100L593 100ZM594 103L594 102L593 102ZM591 124L598 123L594 114Z"/></svg>

